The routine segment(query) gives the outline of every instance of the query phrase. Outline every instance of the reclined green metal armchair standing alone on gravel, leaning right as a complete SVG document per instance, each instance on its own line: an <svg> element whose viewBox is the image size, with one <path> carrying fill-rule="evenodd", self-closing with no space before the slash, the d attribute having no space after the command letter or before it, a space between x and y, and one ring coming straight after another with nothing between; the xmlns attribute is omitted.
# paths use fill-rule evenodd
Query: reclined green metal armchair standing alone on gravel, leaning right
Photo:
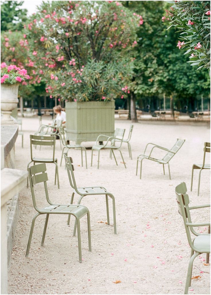
<svg viewBox="0 0 211 295"><path fill-rule="evenodd" d="M138 171L138 163L141 162L141 167L140 167L140 179L141 179L141 168L142 168L142 161L144 159L147 159L147 160L152 160L152 161L155 161L159 164L163 164L163 173L165 175L165 170L164 170L164 165L165 164L168 164L168 168L169 168L169 161L174 157L174 155L178 152L178 150L182 147L183 143L185 142L185 139L177 139L175 145L169 150L167 148L163 148L159 145L155 145L154 143L151 143L149 142L147 145L146 145L146 148L144 150L144 154L143 155L139 155L138 158L137 158L137 164L136 164L136 175L137 175L137 171ZM147 149L147 146L148 145L153 145L149 155L146 155L146 149ZM156 159L156 158L152 158L151 157L151 153L152 151L154 150L154 148L159 148L161 150L166 150L168 153L161 159ZM171 179L171 174L170 174L170 168L169 168L169 179Z"/></svg>

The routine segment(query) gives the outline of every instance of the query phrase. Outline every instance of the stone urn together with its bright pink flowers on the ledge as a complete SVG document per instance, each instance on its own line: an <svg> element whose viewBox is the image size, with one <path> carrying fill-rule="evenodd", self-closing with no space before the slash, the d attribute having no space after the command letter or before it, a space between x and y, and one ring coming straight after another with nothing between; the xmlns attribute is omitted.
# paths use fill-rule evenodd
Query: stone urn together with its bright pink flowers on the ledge
<svg viewBox="0 0 211 295"><path fill-rule="evenodd" d="M13 124L10 118L12 110L17 107L18 87L25 79L29 79L27 70L19 68L16 65L7 66L1 63L1 124Z"/></svg>

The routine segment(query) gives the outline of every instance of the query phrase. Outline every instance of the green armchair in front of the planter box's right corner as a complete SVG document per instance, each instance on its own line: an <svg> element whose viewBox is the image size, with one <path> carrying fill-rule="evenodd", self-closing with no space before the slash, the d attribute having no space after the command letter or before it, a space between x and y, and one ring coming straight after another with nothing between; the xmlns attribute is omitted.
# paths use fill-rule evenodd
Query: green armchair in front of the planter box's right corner
<svg viewBox="0 0 211 295"><path fill-rule="evenodd" d="M99 169L100 150L102 150L102 149L110 149L111 152L113 153L115 161L116 161L116 157L114 155L113 150L118 150L120 152L120 154L121 154L122 161L123 161L124 166L126 168L125 161L123 159L123 156L122 156L122 153L121 153L121 150L120 150L122 142L123 142L124 133L125 133L125 129L116 128L116 130L114 132L114 136L107 136L107 135L103 135L103 134L98 136L95 145L93 145L93 147L92 147L92 157L93 157L93 150L98 151L98 169ZM98 145L97 142L98 141L103 141L103 139L107 140L106 144ZM114 145L115 140L118 142L117 146ZM108 143L111 143L111 145L108 145ZM110 158L111 158L111 156L110 156ZM118 165L117 161L116 161L116 165ZM92 158L91 158L91 166L92 166Z"/></svg>

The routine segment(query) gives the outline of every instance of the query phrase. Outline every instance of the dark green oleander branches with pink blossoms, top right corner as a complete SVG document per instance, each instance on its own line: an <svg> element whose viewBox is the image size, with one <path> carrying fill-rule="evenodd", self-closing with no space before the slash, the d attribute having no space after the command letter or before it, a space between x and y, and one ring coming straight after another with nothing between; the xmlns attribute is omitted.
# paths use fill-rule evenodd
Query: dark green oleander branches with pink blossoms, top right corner
<svg viewBox="0 0 211 295"><path fill-rule="evenodd" d="M210 1L170 1L163 22L180 32L177 47L188 49L189 63L210 68ZM186 54L185 53L185 54Z"/></svg>

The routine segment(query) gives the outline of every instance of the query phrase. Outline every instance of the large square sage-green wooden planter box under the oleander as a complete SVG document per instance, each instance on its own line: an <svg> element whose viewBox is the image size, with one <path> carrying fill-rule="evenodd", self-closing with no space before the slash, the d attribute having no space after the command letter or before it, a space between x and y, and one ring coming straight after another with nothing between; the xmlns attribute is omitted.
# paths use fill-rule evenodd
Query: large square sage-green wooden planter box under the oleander
<svg viewBox="0 0 211 295"><path fill-rule="evenodd" d="M114 135L114 101L66 102L67 140L80 144L100 134Z"/></svg>

